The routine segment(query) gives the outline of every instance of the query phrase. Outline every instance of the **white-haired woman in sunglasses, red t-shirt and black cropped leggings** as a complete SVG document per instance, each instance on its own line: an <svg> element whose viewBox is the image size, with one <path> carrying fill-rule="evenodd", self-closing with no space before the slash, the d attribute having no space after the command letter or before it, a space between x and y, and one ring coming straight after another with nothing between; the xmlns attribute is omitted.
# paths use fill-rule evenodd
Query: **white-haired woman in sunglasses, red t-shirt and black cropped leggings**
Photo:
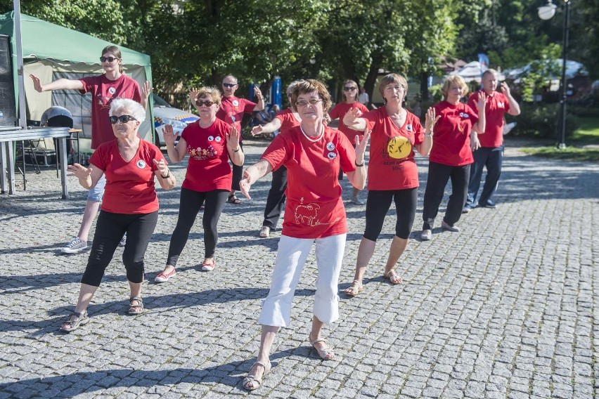
<svg viewBox="0 0 599 399"><path fill-rule="evenodd" d="M129 315L143 312L143 257L158 220L154 179L165 190L174 188L176 183L162 152L139 138L139 126L144 119L146 110L139 103L122 98L113 100L108 120L116 140L98 146L89 159L89 168L80 164L68 166L69 176L77 177L84 188L93 188L102 176L106 176L107 183L79 300L75 312L60 327L63 332L72 332L89 322L87 306L124 233L128 237L122 259L131 290Z"/></svg>

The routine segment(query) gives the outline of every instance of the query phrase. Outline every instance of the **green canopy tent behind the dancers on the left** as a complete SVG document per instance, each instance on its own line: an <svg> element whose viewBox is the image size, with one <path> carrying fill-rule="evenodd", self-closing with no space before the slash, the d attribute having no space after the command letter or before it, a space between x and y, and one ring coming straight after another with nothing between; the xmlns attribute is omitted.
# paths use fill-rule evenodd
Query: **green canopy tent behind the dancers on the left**
<svg viewBox="0 0 599 399"><path fill-rule="evenodd" d="M14 13L0 15L0 34L11 37L13 71L17 70ZM21 14L21 37L23 70L25 75L25 99L27 119L39 120L41 114L52 105L66 107L73 115L76 129L82 129L84 138L91 138L91 95L82 96L77 91L35 91L30 74L37 75L42 82L50 82L60 77L79 79L83 76L102 74L101 51L110 46L109 41L92 37L89 34L70 30L50 22ZM140 86L152 81L150 56L119 46L122 53L124 73L139 82ZM15 81L15 98L18 98L18 76ZM139 134L148 140L153 139L153 101L149 98L146 121L140 126ZM17 103L18 106L18 103ZM148 133L150 135L148 136Z"/></svg>

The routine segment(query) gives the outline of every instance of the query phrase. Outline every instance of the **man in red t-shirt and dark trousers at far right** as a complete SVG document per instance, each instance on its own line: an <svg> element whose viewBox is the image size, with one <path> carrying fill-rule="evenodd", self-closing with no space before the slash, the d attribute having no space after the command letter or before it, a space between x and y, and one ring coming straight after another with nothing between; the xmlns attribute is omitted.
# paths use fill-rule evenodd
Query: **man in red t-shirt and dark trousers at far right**
<svg viewBox="0 0 599 399"><path fill-rule="evenodd" d="M499 176L501 175L501 164L503 163L503 115L520 115L520 105L510 93L510 88L505 81L501 84L501 92L496 91L498 84L497 71L487 70L482 74L482 90L476 91L468 98L468 105L475 107L481 93L487 94L487 107L484 114L487 117L487 127L478 132L480 147L472 152L474 163L470 165L470 181L468 182L468 199L464 205L463 213L467 214L476 207L476 199L482 178L482 169L487 166L487 177L484 178L484 186L478 199L478 206L494 208L495 202L491 200ZM484 134L482 134L484 133Z"/></svg>

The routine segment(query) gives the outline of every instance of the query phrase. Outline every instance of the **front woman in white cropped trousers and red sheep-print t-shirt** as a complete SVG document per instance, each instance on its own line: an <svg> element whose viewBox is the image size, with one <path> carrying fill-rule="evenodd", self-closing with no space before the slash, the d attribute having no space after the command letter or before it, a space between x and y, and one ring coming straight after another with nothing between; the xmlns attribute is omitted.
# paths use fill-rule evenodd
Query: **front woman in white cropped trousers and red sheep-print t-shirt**
<svg viewBox="0 0 599 399"><path fill-rule="evenodd" d="M250 391L262 385L262 378L271 369L271 346L278 329L290 324L295 287L314 243L318 277L309 341L320 358L334 358L333 349L321 332L324 323L339 318L337 282L347 221L337 171L341 168L354 187L363 188L366 182L364 151L369 132L357 141L354 150L344 134L323 124L331 101L320 81L308 79L296 84L291 101L302 122L276 136L262 159L245 170L240 182L241 192L249 199L255 181L283 165L288 169L283 232L271 289L258 318L262 325L258 358L243 380L243 387Z"/></svg>

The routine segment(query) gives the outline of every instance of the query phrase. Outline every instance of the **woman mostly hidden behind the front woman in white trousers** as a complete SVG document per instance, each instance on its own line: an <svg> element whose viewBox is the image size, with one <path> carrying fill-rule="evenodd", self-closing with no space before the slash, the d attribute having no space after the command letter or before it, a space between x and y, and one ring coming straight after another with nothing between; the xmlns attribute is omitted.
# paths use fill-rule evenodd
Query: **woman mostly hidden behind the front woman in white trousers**
<svg viewBox="0 0 599 399"><path fill-rule="evenodd" d="M289 100L288 109L279 112L276 117L263 126L254 126L252 129L252 136L257 136L261 133L272 133L281 129L281 132L290 129L295 126L299 126L299 122L302 119L291 103L291 94L293 87L298 84L301 80L292 81L287 86L287 98ZM262 229L258 235L262 238L270 237L271 230L276 229L278 224L278 218L281 216L283 206L285 205L285 190L287 189L287 168L281 166L276 171L273 171L273 180L271 181L271 189L269 190L269 197L266 198L266 208L264 209L264 221L262 221Z"/></svg>

